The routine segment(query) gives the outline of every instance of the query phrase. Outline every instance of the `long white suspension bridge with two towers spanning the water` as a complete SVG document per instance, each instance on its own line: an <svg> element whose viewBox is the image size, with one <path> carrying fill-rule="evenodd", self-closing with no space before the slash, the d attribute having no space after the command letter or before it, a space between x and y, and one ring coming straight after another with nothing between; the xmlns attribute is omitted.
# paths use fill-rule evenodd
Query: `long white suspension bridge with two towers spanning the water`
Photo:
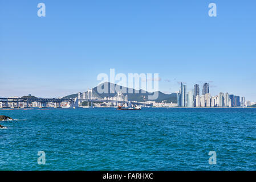
<svg viewBox="0 0 256 182"><path fill-rule="evenodd" d="M137 105L141 107L152 107L152 104L141 102L128 101L127 96L122 92L117 92L114 97L101 98L93 89L88 89L87 92L79 92L75 98L0 98L0 108L27 108L27 107L63 107L76 108L83 107L82 103L87 102L85 107L93 107L95 104L105 104L107 106L117 105ZM91 106L89 105L91 103Z"/></svg>

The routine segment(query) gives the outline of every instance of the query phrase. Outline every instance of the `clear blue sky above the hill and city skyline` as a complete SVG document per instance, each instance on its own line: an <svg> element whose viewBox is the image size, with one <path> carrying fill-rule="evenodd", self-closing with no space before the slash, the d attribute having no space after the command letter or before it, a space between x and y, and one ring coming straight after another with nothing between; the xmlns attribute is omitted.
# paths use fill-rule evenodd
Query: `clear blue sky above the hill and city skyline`
<svg viewBox="0 0 256 182"><path fill-rule="evenodd" d="M253 0L0 2L0 96L62 97L115 68L159 73L165 93L209 82L212 95L256 101Z"/></svg>

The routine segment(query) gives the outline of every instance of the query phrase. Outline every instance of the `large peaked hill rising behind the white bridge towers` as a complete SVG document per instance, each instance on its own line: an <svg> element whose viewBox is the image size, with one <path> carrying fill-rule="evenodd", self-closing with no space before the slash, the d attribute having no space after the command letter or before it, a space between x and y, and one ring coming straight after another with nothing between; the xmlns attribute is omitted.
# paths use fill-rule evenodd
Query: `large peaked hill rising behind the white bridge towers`
<svg viewBox="0 0 256 182"><path fill-rule="evenodd" d="M108 93L97 92L97 86L95 86L95 88L93 88L95 95L99 98L115 97L117 93L115 92L115 89L113 89L113 88L116 88L116 86L120 86L120 85L112 84L110 82L105 82L105 83L99 85L101 87L101 89L104 89L104 84L108 85ZM126 93L123 93L123 94L124 94L124 96L128 96L129 101L145 102L145 101L149 101L148 96L153 95L153 93L145 92L144 90L141 90L141 89L135 90L132 88L127 88L127 87L122 87L122 86L120 86L120 89L126 91ZM130 89L130 93L128 93L128 89ZM152 100L152 101L156 101L156 102L165 101L166 103L170 103L170 102L177 103L177 93L165 94L160 91L157 91L157 92L159 94L159 97L156 100ZM71 94L71 95L63 97L63 98L75 98L75 97L78 97L77 93Z"/></svg>

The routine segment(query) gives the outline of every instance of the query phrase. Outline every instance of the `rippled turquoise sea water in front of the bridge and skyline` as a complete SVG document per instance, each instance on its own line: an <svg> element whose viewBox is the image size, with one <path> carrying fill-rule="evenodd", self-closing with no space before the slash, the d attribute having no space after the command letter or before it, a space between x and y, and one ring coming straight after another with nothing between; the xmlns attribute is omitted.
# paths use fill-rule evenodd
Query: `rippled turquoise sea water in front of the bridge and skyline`
<svg viewBox="0 0 256 182"><path fill-rule="evenodd" d="M1 170L256 170L256 109L0 110ZM38 164L38 151L46 165ZM208 163L216 151L217 164Z"/></svg>

